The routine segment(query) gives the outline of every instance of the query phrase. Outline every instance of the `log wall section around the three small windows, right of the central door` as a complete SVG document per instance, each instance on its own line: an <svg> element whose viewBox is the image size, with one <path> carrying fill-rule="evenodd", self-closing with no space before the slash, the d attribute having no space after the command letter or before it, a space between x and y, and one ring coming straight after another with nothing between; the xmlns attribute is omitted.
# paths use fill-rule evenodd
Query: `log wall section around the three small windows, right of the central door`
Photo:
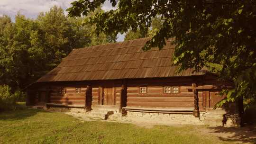
<svg viewBox="0 0 256 144"><path fill-rule="evenodd" d="M165 80L136 80L128 81L127 106L151 108L193 108L194 94L188 91L194 81L192 78L173 78ZM164 87L179 87L179 93L164 93ZM140 87L146 87L147 92L140 93ZM202 92L198 93L199 108L203 108Z"/></svg>

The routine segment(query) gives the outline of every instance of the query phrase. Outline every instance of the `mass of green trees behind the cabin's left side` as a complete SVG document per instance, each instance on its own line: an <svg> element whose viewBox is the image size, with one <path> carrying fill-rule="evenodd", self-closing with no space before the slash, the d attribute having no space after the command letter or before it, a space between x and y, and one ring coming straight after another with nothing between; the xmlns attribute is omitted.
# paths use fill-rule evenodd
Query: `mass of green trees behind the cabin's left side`
<svg viewBox="0 0 256 144"><path fill-rule="evenodd" d="M0 85L11 92L24 89L72 49L115 42L115 36L98 37L94 25L82 24L86 19L68 18L57 6L36 19L18 14L12 22L8 16L0 17Z"/></svg>

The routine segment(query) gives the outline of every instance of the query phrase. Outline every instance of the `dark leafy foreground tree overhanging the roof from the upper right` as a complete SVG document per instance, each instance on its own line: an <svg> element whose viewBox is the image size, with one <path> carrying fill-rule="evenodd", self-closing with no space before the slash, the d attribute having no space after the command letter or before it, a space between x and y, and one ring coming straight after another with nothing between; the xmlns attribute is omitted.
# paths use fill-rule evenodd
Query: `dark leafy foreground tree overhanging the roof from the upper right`
<svg viewBox="0 0 256 144"><path fill-rule="evenodd" d="M87 15L105 0L77 0L67 9L69 16ZM173 64L179 71L208 67L221 80L234 82L226 90L227 101L244 98L256 102L256 3L254 0L110 0L116 10L91 17L97 33L125 33L130 28L146 31L159 15L162 27L144 50L165 45L175 37Z"/></svg>

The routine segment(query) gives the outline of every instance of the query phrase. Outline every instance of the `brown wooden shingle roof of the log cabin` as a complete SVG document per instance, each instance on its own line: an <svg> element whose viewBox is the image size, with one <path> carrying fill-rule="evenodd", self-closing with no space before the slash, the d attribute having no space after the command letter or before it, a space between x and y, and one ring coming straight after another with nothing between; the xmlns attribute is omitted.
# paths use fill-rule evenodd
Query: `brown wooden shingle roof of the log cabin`
<svg viewBox="0 0 256 144"><path fill-rule="evenodd" d="M41 77L43 81L91 81L134 78L157 78L203 75L205 71L192 69L176 73L171 66L175 45L166 41L162 50L157 47L144 52L141 48L149 38L96 45L74 49L52 71Z"/></svg>

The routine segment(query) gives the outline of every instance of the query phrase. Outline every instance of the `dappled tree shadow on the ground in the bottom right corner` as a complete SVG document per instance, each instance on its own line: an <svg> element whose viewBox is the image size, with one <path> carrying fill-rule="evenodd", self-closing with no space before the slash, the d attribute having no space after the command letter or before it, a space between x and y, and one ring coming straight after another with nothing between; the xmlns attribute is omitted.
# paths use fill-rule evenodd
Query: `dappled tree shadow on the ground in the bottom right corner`
<svg viewBox="0 0 256 144"><path fill-rule="evenodd" d="M212 133L219 133L219 139L227 142L256 144L256 125L245 127L209 127Z"/></svg>

